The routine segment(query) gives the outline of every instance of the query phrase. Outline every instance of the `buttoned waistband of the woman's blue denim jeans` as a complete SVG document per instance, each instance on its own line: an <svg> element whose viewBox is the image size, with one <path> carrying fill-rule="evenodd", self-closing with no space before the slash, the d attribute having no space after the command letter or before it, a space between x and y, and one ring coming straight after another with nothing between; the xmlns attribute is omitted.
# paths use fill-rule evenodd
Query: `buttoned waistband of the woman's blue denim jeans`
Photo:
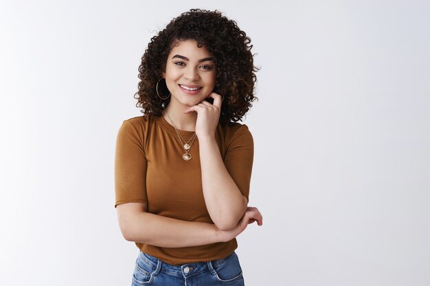
<svg viewBox="0 0 430 286"><path fill-rule="evenodd" d="M152 270L154 270L154 274L157 274L158 272L164 272L173 276L189 277L207 271L214 273L214 267L224 263L231 255L234 254L236 253L232 252L227 257L214 261L186 263L182 265L172 265L163 262L160 259L157 259L157 257L152 257L151 255L146 254L142 251L139 254L139 258L142 262L144 262L146 265L151 267Z"/></svg>

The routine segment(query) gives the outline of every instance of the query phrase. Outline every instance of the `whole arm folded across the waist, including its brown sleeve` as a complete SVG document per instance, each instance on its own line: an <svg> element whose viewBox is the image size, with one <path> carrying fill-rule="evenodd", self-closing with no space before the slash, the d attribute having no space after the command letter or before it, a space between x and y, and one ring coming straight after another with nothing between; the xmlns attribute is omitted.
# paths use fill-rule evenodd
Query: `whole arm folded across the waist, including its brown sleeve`
<svg viewBox="0 0 430 286"><path fill-rule="evenodd" d="M184 222L146 212L146 156L144 128L133 120L124 121L115 152L115 206L122 235L128 241L161 247L201 246L229 241L245 228L237 224L222 231L214 224ZM258 211L252 215L261 216ZM249 215L248 215L249 216Z"/></svg>

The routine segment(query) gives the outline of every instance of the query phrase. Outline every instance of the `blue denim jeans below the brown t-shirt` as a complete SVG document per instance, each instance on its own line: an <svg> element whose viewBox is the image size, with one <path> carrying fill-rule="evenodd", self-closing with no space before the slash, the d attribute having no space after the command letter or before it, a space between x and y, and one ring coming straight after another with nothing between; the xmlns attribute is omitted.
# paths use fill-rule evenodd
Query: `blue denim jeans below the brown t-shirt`
<svg viewBox="0 0 430 286"><path fill-rule="evenodd" d="M209 262L171 265L140 252L136 260L132 286L244 286L242 268L236 252Z"/></svg>

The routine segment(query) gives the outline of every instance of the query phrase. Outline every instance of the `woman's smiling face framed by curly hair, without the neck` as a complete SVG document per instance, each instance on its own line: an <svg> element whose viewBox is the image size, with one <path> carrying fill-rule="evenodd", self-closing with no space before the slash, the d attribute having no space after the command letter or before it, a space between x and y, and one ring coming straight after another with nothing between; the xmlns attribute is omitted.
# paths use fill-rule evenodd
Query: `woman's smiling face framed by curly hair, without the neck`
<svg viewBox="0 0 430 286"><path fill-rule="evenodd" d="M195 40L181 40L168 55L163 78L172 94L169 105L199 104L214 90L212 55L205 47L197 47Z"/></svg>

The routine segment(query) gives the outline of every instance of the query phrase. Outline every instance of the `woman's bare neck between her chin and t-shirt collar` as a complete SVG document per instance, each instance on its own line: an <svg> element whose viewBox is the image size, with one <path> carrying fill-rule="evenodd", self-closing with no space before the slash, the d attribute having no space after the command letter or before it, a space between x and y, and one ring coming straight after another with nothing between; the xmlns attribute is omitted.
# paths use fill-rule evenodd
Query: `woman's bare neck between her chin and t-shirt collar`
<svg viewBox="0 0 430 286"><path fill-rule="evenodd" d="M168 123L174 123L177 129L183 131L195 131L197 113L190 112L185 114L183 111L187 106L173 106L169 104L165 110L163 110L163 117L168 121Z"/></svg>

